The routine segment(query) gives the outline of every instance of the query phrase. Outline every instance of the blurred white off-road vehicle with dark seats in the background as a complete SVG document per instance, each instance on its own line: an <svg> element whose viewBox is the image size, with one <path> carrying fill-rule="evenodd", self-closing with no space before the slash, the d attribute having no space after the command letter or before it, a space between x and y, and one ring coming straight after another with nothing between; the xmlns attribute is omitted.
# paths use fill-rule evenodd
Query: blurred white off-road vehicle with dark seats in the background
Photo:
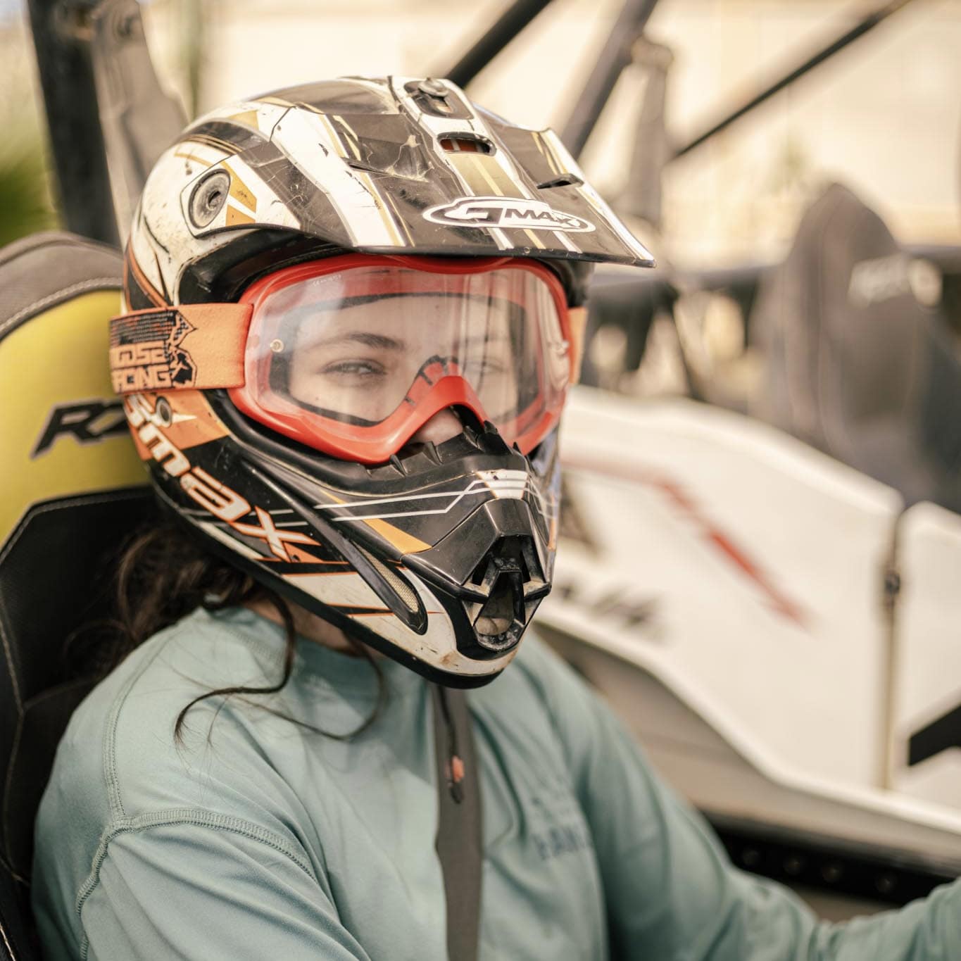
<svg viewBox="0 0 961 961"><path fill-rule="evenodd" d="M700 147L902 6L673 153L672 58L642 46L656 83L639 152ZM622 211L655 229L660 169L636 170ZM780 262L599 270L583 381L622 398L582 391L565 422L565 543L541 629L736 860L860 898L906 881L870 857L842 865L847 844L918 853L922 824L958 825L959 289L961 248L899 244L825 185Z"/></svg>

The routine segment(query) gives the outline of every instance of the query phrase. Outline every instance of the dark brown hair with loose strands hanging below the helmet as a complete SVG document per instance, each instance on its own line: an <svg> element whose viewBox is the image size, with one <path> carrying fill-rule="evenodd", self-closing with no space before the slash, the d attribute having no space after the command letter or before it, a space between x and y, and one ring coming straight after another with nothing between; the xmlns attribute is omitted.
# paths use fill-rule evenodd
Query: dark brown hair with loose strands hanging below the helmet
<svg viewBox="0 0 961 961"><path fill-rule="evenodd" d="M280 595L210 554L203 543L185 530L182 524L168 521L140 530L127 543L117 566L117 629L111 635L109 647L102 651L101 671L108 673L148 637L162 628L176 624L198 607L221 610L258 600L273 604L283 621L286 644L283 649L281 677L274 684L268 683L259 687L238 684L199 694L185 704L177 715L174 739L178 743L183 742L186 714L195 704L213 697L276 694L280 691L293 671L297 633L290 606ZM359 727L346 734L333 734L282 714L267 704L259 704L259 707L292 724L336 740L356 737L370 727L381 712L386 686L381 668L368 649L353 638L348 640L357 649L357 653L369 661L378 681L378 697L374 710Z"/></svg>

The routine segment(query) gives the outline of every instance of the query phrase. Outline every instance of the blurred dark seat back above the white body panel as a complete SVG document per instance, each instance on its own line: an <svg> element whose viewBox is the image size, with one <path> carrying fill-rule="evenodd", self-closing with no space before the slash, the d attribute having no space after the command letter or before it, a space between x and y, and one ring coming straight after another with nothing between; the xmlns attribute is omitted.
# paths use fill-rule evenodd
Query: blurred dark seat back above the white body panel
<svg viewBox="0 0 961 961"><path fill-rule="evenodd" d="M752 328L767 383L753 412L909 505L961 511L961 362L909 266L880 217L830 185L762 283Z"/></svg>

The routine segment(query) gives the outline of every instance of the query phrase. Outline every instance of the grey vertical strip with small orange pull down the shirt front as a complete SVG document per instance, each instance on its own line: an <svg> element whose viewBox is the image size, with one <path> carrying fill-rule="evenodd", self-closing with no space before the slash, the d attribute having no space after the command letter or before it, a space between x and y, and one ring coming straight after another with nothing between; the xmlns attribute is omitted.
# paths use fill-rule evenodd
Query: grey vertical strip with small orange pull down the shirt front
<svg viewBox="0 0 961 961"><path fill-rule="evenodd" d="M437 775L437 840L447 900L447 956L476 961L483 859L480 766L463 691L431 684Z"/></svg>

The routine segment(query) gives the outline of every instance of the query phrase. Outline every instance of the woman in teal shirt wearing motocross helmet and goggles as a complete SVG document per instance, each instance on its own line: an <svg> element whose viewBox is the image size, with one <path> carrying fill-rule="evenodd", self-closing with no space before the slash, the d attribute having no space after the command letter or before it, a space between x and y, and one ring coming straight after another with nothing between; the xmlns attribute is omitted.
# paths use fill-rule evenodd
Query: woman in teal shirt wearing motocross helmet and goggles
<svg viewBox="0 0 961 961"><path fill-rule="evenodd" d="M160 159L111 369L189 538L125 558L161 629L63 738L48 957L961 956L956 885L831 928L733 869L519 650L598 260L652 262L552 133L444 81L283 90Z"/></svg>

